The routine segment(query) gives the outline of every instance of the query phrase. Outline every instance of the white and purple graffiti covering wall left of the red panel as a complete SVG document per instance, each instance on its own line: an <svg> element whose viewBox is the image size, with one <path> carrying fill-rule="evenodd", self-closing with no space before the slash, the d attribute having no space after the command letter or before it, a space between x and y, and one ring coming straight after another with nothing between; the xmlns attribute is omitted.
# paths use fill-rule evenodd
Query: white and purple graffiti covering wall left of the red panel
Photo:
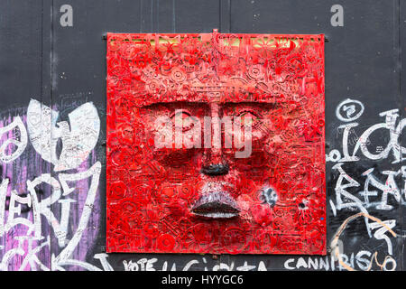
<svg viewBox="0 0 406 289"><path fill-rule="evenodd" d="M88 166L91 162L88 156L99 135L97 109L88 102L69 113L69 123L57 123L58 117L58 111L37 100L30 101L26 126L33 152L40 155L39 162L43 160L54 166L51 173L38 171L37 176L26 179L24 191L14 190L16 180L11 180L13 175L2 179L0 238L5 245L0 250L1 270L65 270L65 266L100 270L84 260L73 258L86 233L97 197L101 163L97 161ZM13 165L13 161L23 157L28 143L21 117L14 117L12 123L0 128L0 135L7 132L8 138L2 137L0 159ZM57 156L59 140L62 147L60 156ZM17 148L13 151L10 144ZM42 163L36 164L42 166ZM65 172L67 170L76 172ZM79 212L77 224L69 223L73 206ZM56 241L57 248L51 251L52 240ZM41 260L40 256L48 257ZM95 259L105 270L112 269L105 255L95 255Z"/></svg>

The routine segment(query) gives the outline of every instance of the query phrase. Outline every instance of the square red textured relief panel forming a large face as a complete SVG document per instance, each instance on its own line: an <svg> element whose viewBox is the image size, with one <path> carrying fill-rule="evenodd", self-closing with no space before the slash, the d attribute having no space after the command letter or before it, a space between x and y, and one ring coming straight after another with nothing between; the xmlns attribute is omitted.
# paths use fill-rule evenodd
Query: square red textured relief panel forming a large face
<svg viewBox="0 0 406 289"><path fill-rule="evenodd" d="M106 60L107 252L326 254L323 35L108 33ZM253 117L251 156L157 149L175 109ZM238 217L191 214L208 184Z"/></svg>

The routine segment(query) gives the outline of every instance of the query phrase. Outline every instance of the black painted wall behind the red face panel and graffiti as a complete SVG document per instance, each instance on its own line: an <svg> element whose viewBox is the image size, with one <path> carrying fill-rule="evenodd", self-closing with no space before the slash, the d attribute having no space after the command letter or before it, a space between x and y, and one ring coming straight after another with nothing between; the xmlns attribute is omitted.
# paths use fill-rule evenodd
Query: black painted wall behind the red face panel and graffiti
<svg viewBox="0 0 406 289"><path fill-rule="evenodd" d="M60 25L61 5L73 8L73 26ZM332 26L330 12L333 5L344 8L344 26ZM346 98L360 101L364 114L354 122L358 126L351 133L359 140L363 132L375 124L384 122L379 113L398 108L405 115L405 74L406 51L406 3L401 0L2 0L0 2L0 117L8 117L18 107L27 107L30 98L41 100L48 106L60 107L61 117L66 117L69 107L92 101L101 119L101 133L96 150L96 158L103 164L99 183L101 210L97 230L97 240L81 245L87 250L86 261L102 268L94 256L105 252L106 234L106 41L103 35L110 33L211 33L218 28L220 33L325 33L326 42L326 154L338 150L343 154L343 129L345 125L336 116L337 106ZM401 48L403 47L403 51ZM63 108L66 112L63 112ZM404 132L403 132L404 135ZM404 136L399 144L406 146ZM353 138L354 138L353 137ZM376 131L371 136L371 151L376 146L383 149L390 141L389 130ZM350 151L354 145L348 145ZM372 147L374 149L372 149ZM406 153L405 153L406 154ZM356 154L360 160L342 164L344 171L360 183L359 188L351 189L357 198L364 189L363 172L374 168L376 177L384 183L384 171L400 171L403 162L393 163L392 153L388 157L372 160L364 154ZM339 172L333 166L339 162L328 162L326 168L328 194L328 243L347 218L355 215L358 209L337 210L337 181ZM53 172L52 172L53 173ZM405 189L405 176L397 175L395 182L399 190ZM11 180L11 182L14 182ZM377 190L370 187L370 190ZM378 191L375 200L381 200L383 191ZM406 265L402 256L404 244L403 225L405 217L404 194L395 200L388 199L392 210L379 210L375 205L364 206L368 214L382 221L395 220L393 231L388 232L392 244L392 254L388 252L387 240L372 230L368 236L364 218L350 222L340 239L348 264L362 269L360 251L370 254L377 252L377 259L383 262L385 256L392 255L396 270ZM367 208L366 208L367 207ZM370 222L373 222L370 220ZM352 256L353 255L353 256ZM303 257L304 263L300 260ZM176 254L109 254L108 263L115 270L124 270L130 261L138 264L142 258L153 261L153 268L170 270L173 264L181 270L191 260L191 269L208 270L239 266L254 266L257 270L281 270L294 267L307 269L309 256L201 256ZM293 258L293 260L289 260ZM342 269L331 256L313 256L312 260L326 260L329 270ZM351 258L353 260L351 261ZM287 262L287 260L289 260ZM137 263L137 261L139 261ZM246 264L245 264L246 262ZM299 263L298 263L299 262ZM360 263L361 262L361 263ZM260 266L261 264L261 266ZM301 266L300 266L301 264ZM218 267L219 266L219 267ZM299 267L299 268L297 268ZM319 266L317 266L319 267ZM387 266L390 268L391 266ZM240 268L241 269L241 268ZM321 267L325 269L325 267ZM376 263L374 270L381 269ZM343 269L344 270L344 269Z"/></svg>

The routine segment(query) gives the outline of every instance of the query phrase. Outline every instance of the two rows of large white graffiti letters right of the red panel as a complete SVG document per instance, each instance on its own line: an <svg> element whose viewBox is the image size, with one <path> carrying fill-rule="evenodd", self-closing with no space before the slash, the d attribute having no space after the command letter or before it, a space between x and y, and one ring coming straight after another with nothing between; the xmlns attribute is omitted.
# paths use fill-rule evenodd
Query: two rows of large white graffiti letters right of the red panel
<svg viewBox="0 0 406 289"><path fill-rule="evenodd" d="M374 168L367 168L361 172L361 176L364 178L364 184L355 181L345 170L345 163L358 162L360 157L355 156L355 153L361 148L361 152L364 157L370 160L386 160L390 157L390 152L394 157L392 163L399 163L404 158L403 154L406 154L406 149L399 144L401 131L403 130L406 119L401 119L396 125L396 119L399 117L398 109L392 109L379 114L381 117L385 117L385 122L376 124L369 127L355 142L354 153L348 154L348 135L349 131L358 126L357 123L347 124L344 126L338 126L338 129L344 128L343 133L343 154L337 149L332 150L326 155L327 162L337 163L332 167L333 171L338 172L338 178L335 185L336 202L329 200L334 215L337 214L337 210L357 208L363 213L367 214L369 208L375 208L377 210L392 210L393 205L388 202L395 200L397 203L402 203L404 199L405 190L400 189L398 183L401 178L404 179L404 166L397 171L384 170L377 172ZM370 136L377 129L389 130L389 143L385 148L381 147L379 154L372 154L367 144L371 144L369 141ZM378 178L379 175L379 178ZM384 181L383 181L384 179ZM352 192L350 190L352 189ZM355 191L356 189L356 191ZM362 190L364 189L364 190ZM390 200L391 199L391 200ZM404 203L404 202L403 202ZM365 219L366 221L366 219ZM370 229L368 228L368 232Z"/></svg>

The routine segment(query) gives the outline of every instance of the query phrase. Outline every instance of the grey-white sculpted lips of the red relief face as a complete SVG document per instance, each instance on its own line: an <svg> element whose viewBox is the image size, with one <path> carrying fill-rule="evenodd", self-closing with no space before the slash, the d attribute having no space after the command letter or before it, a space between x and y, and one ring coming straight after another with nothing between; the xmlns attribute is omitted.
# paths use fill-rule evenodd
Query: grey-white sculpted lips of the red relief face
<svg viewBox="0 0 406 289"><path fill-rule="evenodd" d="M240 212L235 200L226 191L213 191L201 196L190 211L210 219L234 218Z"/></svg>

